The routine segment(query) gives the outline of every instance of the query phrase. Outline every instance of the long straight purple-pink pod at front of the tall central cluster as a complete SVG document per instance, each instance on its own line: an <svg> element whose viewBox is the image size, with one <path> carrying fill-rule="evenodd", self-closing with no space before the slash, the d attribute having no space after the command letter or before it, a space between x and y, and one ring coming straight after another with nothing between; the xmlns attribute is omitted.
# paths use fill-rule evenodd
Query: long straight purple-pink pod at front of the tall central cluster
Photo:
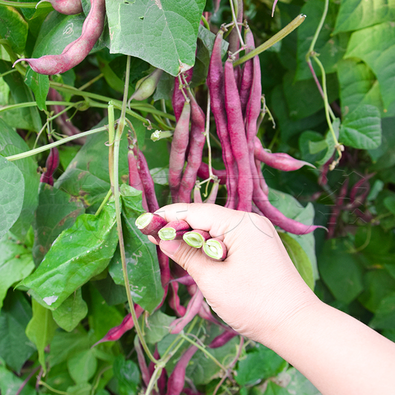
<svg viewBox="0 0 395 395"><path fill-rule="evenodd" d="M251 169L249 151L245 136L243 116L241 114L240 97L238 95L237 83L233 72L233 62L229 58L225 62L225 109L228 115L228 133L238 169L237 210L250 212L252 183L250 182Z"/></svg>

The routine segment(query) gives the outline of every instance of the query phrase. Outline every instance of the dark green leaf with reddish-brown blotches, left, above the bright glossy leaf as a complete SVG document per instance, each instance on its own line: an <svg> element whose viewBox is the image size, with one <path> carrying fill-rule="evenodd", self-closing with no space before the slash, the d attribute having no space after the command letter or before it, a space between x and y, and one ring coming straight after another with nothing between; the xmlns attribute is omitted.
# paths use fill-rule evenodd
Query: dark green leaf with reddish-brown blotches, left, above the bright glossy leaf
<svg viewBox="0 0 395 395"><path fill-rule="evenodd" d="M40 184L39 205L33 223L33 258L37 265L56 237L70 228L83 212L84 206L80 200L48 184Z"/></svg>

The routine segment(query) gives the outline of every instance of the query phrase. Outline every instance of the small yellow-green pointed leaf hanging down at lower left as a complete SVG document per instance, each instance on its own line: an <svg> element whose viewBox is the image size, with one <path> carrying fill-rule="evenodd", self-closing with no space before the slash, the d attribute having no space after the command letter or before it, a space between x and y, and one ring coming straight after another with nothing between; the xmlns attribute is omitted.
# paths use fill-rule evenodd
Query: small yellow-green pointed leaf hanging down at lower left
<svg viewBox="0 0 395 395"><path fill-rule="evenodd" d="M45 348L51 343L57 325L48 309L32 300L33 317L26 327L26 336L36 345L39 352L39 362L44 374L46 372Z"/></svg>

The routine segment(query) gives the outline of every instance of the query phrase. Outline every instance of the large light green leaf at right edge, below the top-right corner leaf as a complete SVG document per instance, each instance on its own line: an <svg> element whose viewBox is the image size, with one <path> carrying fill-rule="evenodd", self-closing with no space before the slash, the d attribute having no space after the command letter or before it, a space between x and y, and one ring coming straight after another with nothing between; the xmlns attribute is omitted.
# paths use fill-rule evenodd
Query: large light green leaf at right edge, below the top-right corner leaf
<svg viewBox="0 0 395 395"><path fill-rule="evenodd" d="M395 26L384 22L351 35L345 58L362 59L376 75L386 109L395 100Z"/></svg>

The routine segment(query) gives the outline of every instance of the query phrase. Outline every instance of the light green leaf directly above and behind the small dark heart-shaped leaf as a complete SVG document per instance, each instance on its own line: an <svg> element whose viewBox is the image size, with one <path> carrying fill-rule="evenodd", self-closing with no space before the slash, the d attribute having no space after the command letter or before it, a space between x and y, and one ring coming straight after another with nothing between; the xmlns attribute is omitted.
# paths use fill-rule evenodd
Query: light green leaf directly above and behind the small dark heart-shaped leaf
<svg viewBox="0 0 395 395"><path fill-rule="evenodd" d="M340 60L337 63L337 77L344 117L352 113L360 104L376 106L382 117L390 116L384 113L379 83L365 63L358 62L356 59Z"/></svg>

